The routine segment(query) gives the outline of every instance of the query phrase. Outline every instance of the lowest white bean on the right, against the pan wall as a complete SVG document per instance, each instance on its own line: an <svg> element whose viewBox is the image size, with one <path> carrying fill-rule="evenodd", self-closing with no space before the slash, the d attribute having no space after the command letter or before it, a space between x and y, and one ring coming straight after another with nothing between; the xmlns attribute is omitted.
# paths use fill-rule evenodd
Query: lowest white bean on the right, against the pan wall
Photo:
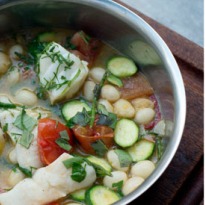
<svg viewBox="0 0 205 205"><path fill-rule="evenodd" d="M142 177L131 177L129 178L122 187L122 193L124 195L128 195L137 189L142 183L144 179Z"/></svg>

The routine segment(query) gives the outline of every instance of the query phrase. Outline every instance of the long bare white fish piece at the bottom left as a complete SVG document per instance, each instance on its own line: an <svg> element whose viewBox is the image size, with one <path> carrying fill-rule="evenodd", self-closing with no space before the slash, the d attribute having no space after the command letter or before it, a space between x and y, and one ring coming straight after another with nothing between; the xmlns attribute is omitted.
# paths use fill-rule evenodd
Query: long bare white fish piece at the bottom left
<svg viewBox="0 0 205 205"><path fill-rule="evenodd" d="M82 182L73 181L72 168L67 169L62 163L71 158L62 154L47 167L40 168L33 175L19 182L12 190L0 194L1 205L43 205L65 197L70 192L91 186L96 180L92 166L86 164L86 177Z"/></svg>

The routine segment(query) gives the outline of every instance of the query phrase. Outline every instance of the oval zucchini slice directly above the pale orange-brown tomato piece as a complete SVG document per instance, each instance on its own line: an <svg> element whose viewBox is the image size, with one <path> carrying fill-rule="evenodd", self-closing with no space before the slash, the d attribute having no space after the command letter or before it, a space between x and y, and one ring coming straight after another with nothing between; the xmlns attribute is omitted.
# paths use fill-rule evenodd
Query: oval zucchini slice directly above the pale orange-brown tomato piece
<svg viewBox="0 0 205 205"><path fill-rule="evenodd" d="M123 56L111 58L107 63L107 69L119 78L129 77L137 72L134 61Z"/></svg>

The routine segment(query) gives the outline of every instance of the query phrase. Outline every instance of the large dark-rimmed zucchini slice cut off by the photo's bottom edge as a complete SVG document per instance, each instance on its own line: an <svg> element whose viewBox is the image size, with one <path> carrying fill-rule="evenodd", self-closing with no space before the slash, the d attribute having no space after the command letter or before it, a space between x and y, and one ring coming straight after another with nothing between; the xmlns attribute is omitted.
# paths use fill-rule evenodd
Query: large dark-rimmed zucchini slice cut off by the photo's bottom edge
<svg viewBox="0 0 205 205"><path fill-rule="evenodd" d="M120 198L117 193L101 185L91 187L85 194L87 205L110 205Z"/></svg>

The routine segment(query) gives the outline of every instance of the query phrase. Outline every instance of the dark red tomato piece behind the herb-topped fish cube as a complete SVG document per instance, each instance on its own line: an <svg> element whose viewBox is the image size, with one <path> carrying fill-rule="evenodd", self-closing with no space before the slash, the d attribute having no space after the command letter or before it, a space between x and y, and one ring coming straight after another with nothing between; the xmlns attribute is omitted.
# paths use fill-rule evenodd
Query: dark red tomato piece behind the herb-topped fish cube
<svg viewBox="0 0 205 205"><path fill-rule="evenodd" d="M89 37L83 31L75 33L71 43L81 53L80 55L78 53L78 55L83 58L82 60L86 60L89 64L92 64L102 45L99 40Z"/></svg>

